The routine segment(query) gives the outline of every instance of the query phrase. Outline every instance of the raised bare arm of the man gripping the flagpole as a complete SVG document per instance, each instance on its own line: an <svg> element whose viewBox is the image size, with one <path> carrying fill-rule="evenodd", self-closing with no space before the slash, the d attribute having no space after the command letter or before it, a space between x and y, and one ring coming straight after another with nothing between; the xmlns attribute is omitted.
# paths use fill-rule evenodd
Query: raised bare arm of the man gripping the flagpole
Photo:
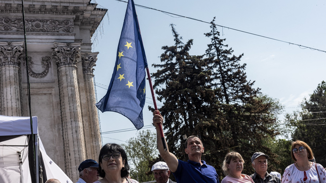
<svg viewBox="0 0 326 183"><path fill-rule="evenodd" d="M174 156L174 154L170 153L168 151L168 147L166 146L166 151L164 151L163 144L162 144L162 137L160 134L160 129L159 126L162 127L163 124L163 117L160 114L159 111L154 111L153 113L153 123L156 128L156 134L158 137L157 143L158 143L158 149L160 152L160 155L164 159L165 163L167 164L168 168L170 169L171 172L175 172L178 168L178 159ZM164 137L165 140L165 137ZM165 140L166 144L166 140Z"/></svg>

